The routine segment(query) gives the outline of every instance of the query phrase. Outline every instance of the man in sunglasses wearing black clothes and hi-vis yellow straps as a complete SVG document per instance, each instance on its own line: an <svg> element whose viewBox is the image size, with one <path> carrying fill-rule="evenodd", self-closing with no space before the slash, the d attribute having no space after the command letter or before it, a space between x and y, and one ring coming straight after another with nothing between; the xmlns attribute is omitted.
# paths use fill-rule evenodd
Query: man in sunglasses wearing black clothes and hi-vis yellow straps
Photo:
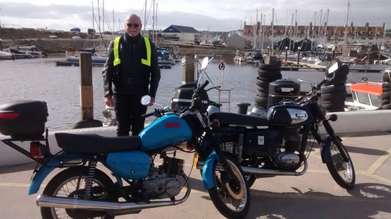
<svg viewBox="0 0 391 219"><path fill-rule="evenodd" d="M115 107L117 136L138 135L144 128L147 106L140 103L144 95L155 102L160 68L156 46L142 37L140 17L131 14L124 21L125 36L115 38L108 47L109 56L103 67L105 103Z"/></svg>

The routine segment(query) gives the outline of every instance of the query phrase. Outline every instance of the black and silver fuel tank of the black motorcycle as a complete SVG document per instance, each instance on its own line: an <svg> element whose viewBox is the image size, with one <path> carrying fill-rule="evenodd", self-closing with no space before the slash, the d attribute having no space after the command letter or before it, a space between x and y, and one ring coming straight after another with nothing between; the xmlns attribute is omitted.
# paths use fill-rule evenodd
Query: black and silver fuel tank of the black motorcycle
<svg viewBox="0 0 391 219"><path fill-rule="evenodd" d="M274 105L267 112L267 120L272 126L302 126L308 121L308 113L295 105Z"/></svg>

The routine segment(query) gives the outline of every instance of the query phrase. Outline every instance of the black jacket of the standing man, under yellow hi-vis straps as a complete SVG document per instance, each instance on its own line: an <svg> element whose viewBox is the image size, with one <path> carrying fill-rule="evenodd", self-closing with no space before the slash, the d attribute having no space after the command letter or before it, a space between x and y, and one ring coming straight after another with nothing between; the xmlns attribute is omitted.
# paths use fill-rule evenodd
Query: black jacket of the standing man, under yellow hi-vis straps
<svg viewBox="0 0 391 219"><path fill-rule="evenodd" d="M112 93L156 96L161 74L158 67L156 46L152 41L150 44L152 50L151 66L146 66L141 63L141 59L147 59L144 38L140 34L132 38L128 33L125 33L125 36L119 41L121 63L114 66L114 40L110 42L109 56L102 73L105 96L112 95Z"/></svg>

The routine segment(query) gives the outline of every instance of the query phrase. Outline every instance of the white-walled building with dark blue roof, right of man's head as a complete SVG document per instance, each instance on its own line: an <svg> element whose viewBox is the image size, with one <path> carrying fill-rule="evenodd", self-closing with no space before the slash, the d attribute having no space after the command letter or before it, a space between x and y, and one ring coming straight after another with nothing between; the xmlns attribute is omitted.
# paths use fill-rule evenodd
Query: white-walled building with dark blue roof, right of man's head
<svg viewBox="0 0 391 219"><path fill-rule="evenodd" d="M194 41L200 33L193 27L171 24L170 27L161 31L161 35L168 40Z"/></svg>

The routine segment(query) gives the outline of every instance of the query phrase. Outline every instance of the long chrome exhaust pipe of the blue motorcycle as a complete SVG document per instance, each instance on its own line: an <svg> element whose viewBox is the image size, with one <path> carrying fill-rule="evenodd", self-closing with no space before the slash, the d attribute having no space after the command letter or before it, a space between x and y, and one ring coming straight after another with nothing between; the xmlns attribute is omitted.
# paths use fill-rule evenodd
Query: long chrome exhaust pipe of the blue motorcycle
<svg viewBox="0 0 391 219"><path fill-rule="evenodd" d="M138 211L142 209L151 209L162 206L172 206L182 204L190 195L190 188L186 191L182 199L175 201L156 201L147 203L135 202L98 202L84 199L74 199L68 197L53 197L47 195L38 195L36 204L40 207L59 208L59 209L82 209L95 211L113 211L117 213L127 211Z"/></svg>

